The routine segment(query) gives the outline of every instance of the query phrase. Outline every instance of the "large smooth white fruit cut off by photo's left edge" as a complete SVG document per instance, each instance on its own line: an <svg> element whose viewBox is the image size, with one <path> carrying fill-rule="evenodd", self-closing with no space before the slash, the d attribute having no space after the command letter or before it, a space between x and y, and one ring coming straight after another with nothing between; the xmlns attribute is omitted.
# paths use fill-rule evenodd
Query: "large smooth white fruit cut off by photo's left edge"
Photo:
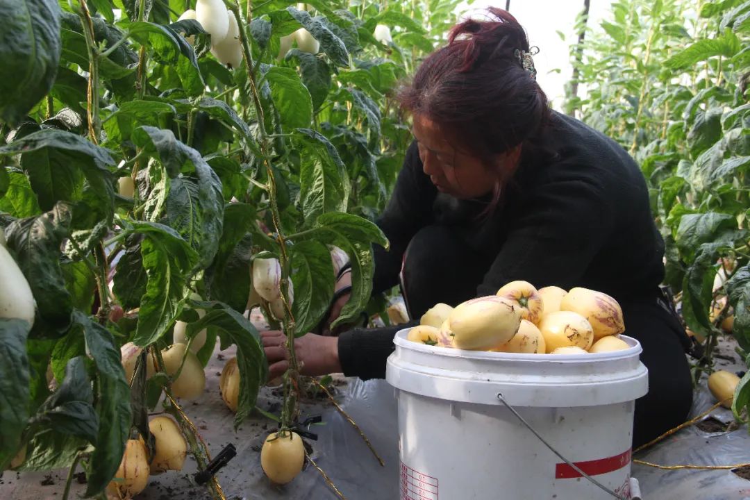
<svg viewBox="0 0 750 500"><path fill-rule="evenodd" d="M5 246L0 245L0 318L23 319L34 326L37 304L26 277Z"/></svg>

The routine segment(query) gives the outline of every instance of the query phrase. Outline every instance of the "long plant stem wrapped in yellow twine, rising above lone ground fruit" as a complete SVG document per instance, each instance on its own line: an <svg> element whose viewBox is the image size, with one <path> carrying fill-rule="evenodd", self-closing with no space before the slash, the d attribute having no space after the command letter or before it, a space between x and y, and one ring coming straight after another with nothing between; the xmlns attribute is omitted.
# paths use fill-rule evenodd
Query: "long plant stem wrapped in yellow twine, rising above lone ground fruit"
<svg viewBox="0 0 750 500"><path fill-rule="evenodd" d="M229 9L233 11L235 17L237 19L240 19L241 13L239 0L234 0L233 4L229 4L228 0L225 1ZM287 244L281 231L281 213L279 211L277 203L276 181L271 168L269 136L268 132L266 131L263 106L260 103L260 93L258 91L257 81L253 70L255 64L250 49L250 39L248 38L247 31L245 30L245 25L243 24L239 26L239 36L242 43L242 52L245 57L245 68L248 72L248 82L250 83L252 94L251 98L258 119L258 130L260 131L260 149L263 154L263 163L266 166L266 173L269 178L269 203L271 208L271 215L275 232L278 235L276 241L279 246L279 263L281 265L281 300L284 302L284 319L282 321L282 331L284 331L284 334L287 336L287 352L289 352L289 369L287 370L287 376L284 377L284 405L282 406L281 412L281 430L284 431L292 427L293 422L296 419L296 391L299 387L299 364L294 352L295 323L292 315L291 303L289 300L290 258L287 252Z"/></svg>

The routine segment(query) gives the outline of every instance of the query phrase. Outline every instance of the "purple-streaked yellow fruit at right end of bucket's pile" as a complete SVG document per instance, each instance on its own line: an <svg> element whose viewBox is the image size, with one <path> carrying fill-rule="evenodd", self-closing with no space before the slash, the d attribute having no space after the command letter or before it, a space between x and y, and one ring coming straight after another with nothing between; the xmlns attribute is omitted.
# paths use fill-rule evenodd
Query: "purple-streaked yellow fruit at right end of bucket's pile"
<svg viewBox="0 0 750 500"><path fill-rule="evenodd" d="M571 311L586 318L594 330L594 340L625 331L622 309L609 295L586 288L574 288L560 301L561 311Z"/></svg>

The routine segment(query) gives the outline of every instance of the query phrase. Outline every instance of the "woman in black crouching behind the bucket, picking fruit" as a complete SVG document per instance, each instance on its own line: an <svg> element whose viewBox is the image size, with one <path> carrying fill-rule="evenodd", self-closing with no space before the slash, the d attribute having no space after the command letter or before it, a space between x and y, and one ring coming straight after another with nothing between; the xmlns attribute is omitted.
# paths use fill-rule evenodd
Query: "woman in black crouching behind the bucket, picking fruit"
<svg viewBox="0 0 750 500"><path fill-rule="evenodd" d="M659 289L664 242L646 183L612 139L550 112L523 28L504 10L490 13L455 26L401 92L415 140L378 220L391 250L374 249L374 292L401 272L413 319L512 280L612 295L649 369L637 446L680 424L692 399L689 342ZM305 335L302 371L383 378L396 330ZM283 338L263 332L272 376L287 367Z"/></svg>

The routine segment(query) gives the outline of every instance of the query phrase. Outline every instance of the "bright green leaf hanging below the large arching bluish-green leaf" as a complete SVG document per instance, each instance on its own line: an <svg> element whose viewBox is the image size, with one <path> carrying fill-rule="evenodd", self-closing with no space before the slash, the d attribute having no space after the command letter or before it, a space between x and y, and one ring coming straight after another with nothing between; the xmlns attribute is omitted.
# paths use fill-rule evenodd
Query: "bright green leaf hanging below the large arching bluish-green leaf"
<svg viewBox="0 0 750 500"><path fill-rule="evenodd" d="M123 220L127 233L141 234L143 268L148 276L140 301L138 328L133 343L145 347L171 328L182 310L190 272L198 261L190 248L169 226Z"/></svg>

